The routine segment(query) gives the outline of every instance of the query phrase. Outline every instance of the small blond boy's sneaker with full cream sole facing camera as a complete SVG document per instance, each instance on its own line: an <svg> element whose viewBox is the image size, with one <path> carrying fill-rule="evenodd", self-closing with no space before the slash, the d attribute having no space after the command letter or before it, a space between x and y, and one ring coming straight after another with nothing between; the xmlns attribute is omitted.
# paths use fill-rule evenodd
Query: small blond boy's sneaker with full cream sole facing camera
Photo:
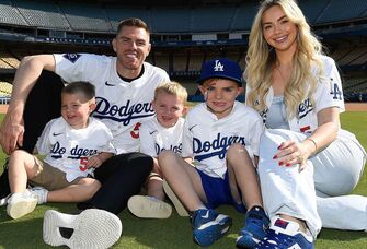
<svg viewBox="0 0 367 249"><path fill-rule="evenodd" d="M170 204L146 195L130 197L127 208L134 215L142 218L168 218L172 213Z"/></svg>

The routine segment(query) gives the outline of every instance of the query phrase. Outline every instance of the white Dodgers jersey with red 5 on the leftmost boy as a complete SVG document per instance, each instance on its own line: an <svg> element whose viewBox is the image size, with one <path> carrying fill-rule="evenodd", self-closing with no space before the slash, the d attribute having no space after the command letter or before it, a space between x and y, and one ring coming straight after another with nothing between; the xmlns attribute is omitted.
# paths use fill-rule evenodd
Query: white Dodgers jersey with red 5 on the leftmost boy
<svg viewBox="0 0 367 249"><path fill-rule="evenodd" d="M46 155L47 164L66 173L68 181L92 174L88 158L101 152L116 154L112 133L101 121L89 118L84 129L71 128L62 117L50 120L38 138L38 154Z"/></svg>

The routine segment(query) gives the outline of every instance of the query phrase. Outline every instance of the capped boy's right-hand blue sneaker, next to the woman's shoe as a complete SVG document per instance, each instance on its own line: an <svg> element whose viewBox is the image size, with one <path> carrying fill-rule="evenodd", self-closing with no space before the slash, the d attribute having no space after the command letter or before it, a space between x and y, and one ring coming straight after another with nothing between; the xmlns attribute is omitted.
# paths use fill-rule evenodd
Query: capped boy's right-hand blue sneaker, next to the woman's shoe
<svg viewBox="0 0 367 249"><path fill-rule="evenodd" d="M238 248L253 248L265 237L271 220L266 216L263 208L256 205L246 212L244 223L245 226L241 229L236 246Z"/></svg>

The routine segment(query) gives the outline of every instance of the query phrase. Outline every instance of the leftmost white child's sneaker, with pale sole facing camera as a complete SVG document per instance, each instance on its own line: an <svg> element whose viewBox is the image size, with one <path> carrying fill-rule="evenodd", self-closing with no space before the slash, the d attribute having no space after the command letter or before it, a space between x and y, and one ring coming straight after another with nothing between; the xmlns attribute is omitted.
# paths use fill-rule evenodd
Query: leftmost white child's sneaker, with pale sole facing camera
<svg viewBox="0 0 367 249"><path fill-rule="evenodd" d="M25 190L22 193L13 193L8 199L7 213L12 218L19 218L34 211L36 205L37 198Z"/></svg>

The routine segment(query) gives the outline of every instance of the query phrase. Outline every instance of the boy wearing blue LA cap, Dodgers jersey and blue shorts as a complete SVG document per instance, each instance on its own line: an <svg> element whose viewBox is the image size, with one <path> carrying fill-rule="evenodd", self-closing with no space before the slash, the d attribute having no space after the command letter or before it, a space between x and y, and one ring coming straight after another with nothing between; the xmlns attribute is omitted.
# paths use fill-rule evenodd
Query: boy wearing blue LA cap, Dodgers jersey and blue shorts
<svg viewBox="0 0 367 249"><path fill-rule="evenodd" d="M256 111L236 102L243 91L241 73L227 59L206 62L198 80L205 103L186 116L183 158L169 151L159 155L164 178L192 212L194 241L200 246L211 245L231 226L230 217L214 210L220 204L246 212L238 247L254 247L269 223L253 164L263 124Z"/></svg>

